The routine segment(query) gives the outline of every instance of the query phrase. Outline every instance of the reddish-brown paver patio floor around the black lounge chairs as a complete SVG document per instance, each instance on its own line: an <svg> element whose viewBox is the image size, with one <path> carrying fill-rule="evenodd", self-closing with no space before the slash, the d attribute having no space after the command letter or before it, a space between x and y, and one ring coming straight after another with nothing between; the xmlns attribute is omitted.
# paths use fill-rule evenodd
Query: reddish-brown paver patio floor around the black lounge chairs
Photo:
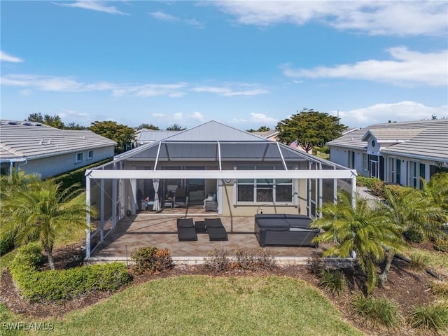
<svg viewBox="0 0 448 336"><path fill-rule="evenodd" d="M221 218L228 232L228 241L209 241L207 233L198 233L197 241L179 241L177 237L177 218L193 218L193 221L204 221L204 218ZM102 244L94 248L91 258L86 262L104 262L112 260L129 260L132 252L143 246L156 246L168 248L174 262L200 263L203 262L207 252L214 248L225 248L229 255L235 246L259 247L258 240L253 233L254 218L251 217L224 217L214 212L205 212L200 206L188 209L165 209L160 214L152 211L140 211L137 216L122 218L116 229L109 232ZM110 230L110 223L106 229ZM106 234L106 232L105 232ZM98 235L94 237L98 239ZM92 239L94 241L95 239ZM94 244L92 244L92 248ZM266 247L272 251L277 260L288 263L304 263L314 253L321 254L323 248L320 244L313 247Z"/></svg>

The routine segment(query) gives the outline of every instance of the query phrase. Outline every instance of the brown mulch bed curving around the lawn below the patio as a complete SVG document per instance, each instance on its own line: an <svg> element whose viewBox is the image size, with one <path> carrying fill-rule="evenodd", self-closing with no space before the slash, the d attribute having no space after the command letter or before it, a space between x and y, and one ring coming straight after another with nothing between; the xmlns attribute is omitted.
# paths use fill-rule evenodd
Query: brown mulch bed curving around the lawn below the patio
<svg viewBox="0 0 448 336"><path fill-rule="evenodd" d="M81 241L78 244L70 244L54 251L55 266L57 269L75 267L82 264L84 253L84 245ZM48 269L48 265L44 265L43 269ZM130 270L132 273L132 269ZM157 274L132 274L134 279L132 285L146 283L155 279L167 278L170 276L180 275L208 275L208 276L288 276L295 279L302 279L313 286L318 286L318 278L309 272L306 265L275 267L274 269L257 271L245 271L241 269L230 269L226 272L214 272L204 265L177 265L172 269ZM385 330L371 325L365 325L351 311L351 298L357 293L362 293L359 283L362 283L362 274L348 270L346 273L349 279L349 290L346 290L340 296L332 296L326 294L331 302L342 312L342 316L350 321L353 325L367 333L367 335L384 335ZM55 316L62 318L64 314L74 309L80 309L97 303L101 300L113 295L113 293L90 293L83 297L67 300L58 303L29 303L20 297L8 270L1 274L0 279L0 302L15 314L22 316L30 316L34 318L48 318ZM388 274L388 281L384 288L377 288L374 291L375 297L388 297L395 300L400 305L400 314L407 316L411 307L417 304L429 304L436 300L435 295L430 291L431 276L424 272L412 272L406 265L406 262L395 259L391 270ZM120 288L119 291L125 288ZM419 335L416 330L387 330L388 335ZM423 335L423 334L422 334ZM428 335L428 334L426 334Z"/></svg>

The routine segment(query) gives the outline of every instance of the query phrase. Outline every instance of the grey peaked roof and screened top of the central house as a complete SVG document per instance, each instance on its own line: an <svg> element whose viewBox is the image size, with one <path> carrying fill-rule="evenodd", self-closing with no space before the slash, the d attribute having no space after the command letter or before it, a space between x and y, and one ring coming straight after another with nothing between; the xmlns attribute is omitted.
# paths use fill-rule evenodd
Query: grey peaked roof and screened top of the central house
<svg viewBox="0 0 448 336"><path fill-rule="evenodd" d="M111 176L123 176L118 172L120 170L116 163L123 161L150 161L155 162L153 169L151 169L152 176L242 176L246 173L241 171L223 171L221 170L221 162L234 161L234 162L273 162L275 166L283 167L283 171L288 171L288 162L309 162L309 165L313 165L313 168L309 168L309 165L302 167L302 169L313 169L309 173L309 176L316 176L316 170L327 170L325 176L346 176L351 177L355 174L351 169L342 167L333 162L323 160L321 158L314 157L308 153L296 151L294 148L290 148L284 144L279 144L276 141L269 141L262 137L258 137L249 132L237 130L233 127L211 121L209 123L202 124L194 127L190 130L185 130L175 134L172 137L162 139L152 144L146 144L134 148L131 151L127 151L123 154L116 155L114 162L92 169L92 176L94 178ZM218 170L216 171L179 171L168 172L160 171L158 169L158 162L160 161L179 161L179 162L217 162ZM112 169L112 167L115 167ZM316 168L321 167L321 168ZM102 172L98 172L101 170ZM115 172L111 172L114 170ZM304 171L302 170L302 172ZM337 173L336 170L339 172ZM344 171L344 172L340 172ZM216 173L214 173L216 172ZM219 172L219 173L218 173ZM257 171L257 175L260 175L262 171ZM279 174L280 170L272 172L264 172L263 174ZM128 172L130 176L140 176L142 174L137 171ZM148 176L148 173L146 173ZM165 175L164 175L165 174ZM196 174L196 175L195 175ZM288 176L297 176L298 171L290 171ZM323 174L323 173L322 173ZM339 175L338 175L339 174ZM254 175L252 175L254 176ZM270 175L269 175L270 176ZM286 175L285 175L286 176ZM136 177L138 178L138 177ZM155 177L160 178L160 177ZM167 178L167 177L165 177ZM216 177L215 177L216 178Z"/></svg>

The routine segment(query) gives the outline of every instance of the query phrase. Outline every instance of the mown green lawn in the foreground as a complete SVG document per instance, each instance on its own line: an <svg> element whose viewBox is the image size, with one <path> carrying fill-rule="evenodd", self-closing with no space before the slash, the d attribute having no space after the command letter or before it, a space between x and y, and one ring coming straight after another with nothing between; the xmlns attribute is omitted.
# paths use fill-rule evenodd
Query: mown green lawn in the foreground
<svg viewBox="0 0 448 336"><path fill-rule="evenodd" d="M363 335L318 290L280 276L158 279L45 323L50 335Z"/></svg>

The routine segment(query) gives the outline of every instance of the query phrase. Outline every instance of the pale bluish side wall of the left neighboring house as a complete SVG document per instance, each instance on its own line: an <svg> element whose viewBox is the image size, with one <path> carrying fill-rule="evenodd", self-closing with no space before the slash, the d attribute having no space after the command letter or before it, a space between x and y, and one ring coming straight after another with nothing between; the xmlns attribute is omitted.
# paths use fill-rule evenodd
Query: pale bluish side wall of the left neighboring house
<svg viewBox="0 0 448 336"><path fill-rule="evenodd" d="M87 154L93 151L93 158L87 160ZM76 162L76 154L83 153L83 161ZM43 179L78 169L94 162L113 157L114 147L90 148L83 151L76 151L64 155L54 155L45 158L29 159L26 165L20 165L20 171L25 174L38 173ZM75 163L76 162L76 163Z"/></svg>

